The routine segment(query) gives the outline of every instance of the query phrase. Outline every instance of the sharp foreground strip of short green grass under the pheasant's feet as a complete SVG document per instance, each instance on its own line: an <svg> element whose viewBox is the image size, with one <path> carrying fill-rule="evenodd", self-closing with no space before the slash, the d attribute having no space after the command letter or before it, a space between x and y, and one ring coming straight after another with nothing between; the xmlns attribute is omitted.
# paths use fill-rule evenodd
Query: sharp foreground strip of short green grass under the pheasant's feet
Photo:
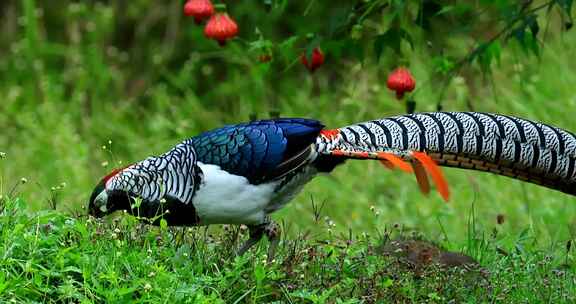
<svg viewBox="0 0 576 304"><path fill-rule="evenodd" d="M107 223L60 212L28 213L20 199L0 206L0 301L34 303L558 303L576 300L572 255L540 250L530 233L515 249L470 234L482 269L415 273L379 247L380 237L322 237L298 229L267 265L265 244L235 257L246 233L230 228L161 229L130 217ZM405 233L405 232L404 232ZM565 252L561 256L558 252Z"/></svg>

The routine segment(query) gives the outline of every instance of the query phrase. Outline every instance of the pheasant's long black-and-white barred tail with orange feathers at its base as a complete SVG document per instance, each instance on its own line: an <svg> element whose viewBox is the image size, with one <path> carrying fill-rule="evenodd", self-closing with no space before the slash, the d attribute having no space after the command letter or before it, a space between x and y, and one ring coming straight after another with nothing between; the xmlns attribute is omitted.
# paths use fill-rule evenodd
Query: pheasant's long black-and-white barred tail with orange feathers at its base
<svg viewBox="0 0 576 304"><path fill-rule="evenodd" d="M429 157L441 166L492 172L576 195L576 136L506 115L432 112L389 117L325 130L317 149L336 157L380 159L389 166L398 166L394 157L399 157L412 161L417 177L423 171L418 164L423 164L436 181L438 172L425 163ZM447 199L447 193L443 196Z"/></svg>

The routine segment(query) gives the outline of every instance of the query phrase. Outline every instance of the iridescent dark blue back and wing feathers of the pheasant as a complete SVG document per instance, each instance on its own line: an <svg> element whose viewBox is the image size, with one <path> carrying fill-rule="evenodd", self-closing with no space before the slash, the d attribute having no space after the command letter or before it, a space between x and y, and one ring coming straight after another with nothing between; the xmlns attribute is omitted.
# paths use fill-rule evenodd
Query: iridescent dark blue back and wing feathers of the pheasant
<svg viewBox="0 0 576 304"><path fill-rule="evenodd" d="M313 144L323 128L317 120L279 118L228 125L191 140L198 161L258 184L284 160Z"/></svg>

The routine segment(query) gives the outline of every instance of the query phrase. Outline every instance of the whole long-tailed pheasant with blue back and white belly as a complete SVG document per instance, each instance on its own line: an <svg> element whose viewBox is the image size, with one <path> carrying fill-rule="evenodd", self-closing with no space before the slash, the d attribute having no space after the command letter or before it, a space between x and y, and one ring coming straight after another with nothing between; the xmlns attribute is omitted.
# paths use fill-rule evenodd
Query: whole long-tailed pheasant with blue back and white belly
<svg viewBox="0 0 576 304"><path fill-rule="evenodd" d="M429 191L449 191L437 165L492 172L576 195L576 136L516 117L433 112L389 117L339 129L280 118L225 126L160 156L105 176L90 197L101 217L116 210L168 225L246 224L245 252L265 234L269 258L278 242L270 214L317 173L347 159L376 159L414 172Z"/></svg>

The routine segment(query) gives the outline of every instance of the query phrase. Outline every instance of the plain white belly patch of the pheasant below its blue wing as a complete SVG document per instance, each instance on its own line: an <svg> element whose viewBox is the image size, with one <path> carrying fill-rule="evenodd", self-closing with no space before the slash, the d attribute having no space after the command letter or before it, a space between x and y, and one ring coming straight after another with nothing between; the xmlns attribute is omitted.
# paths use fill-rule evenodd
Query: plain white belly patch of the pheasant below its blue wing
<svg viewBox="0 0 576 304"><path fill-rule="evenodd" d="M198 163L204 173L192 203L200 224L261 224L278 182L252 185L219 166Z"/></svg>

